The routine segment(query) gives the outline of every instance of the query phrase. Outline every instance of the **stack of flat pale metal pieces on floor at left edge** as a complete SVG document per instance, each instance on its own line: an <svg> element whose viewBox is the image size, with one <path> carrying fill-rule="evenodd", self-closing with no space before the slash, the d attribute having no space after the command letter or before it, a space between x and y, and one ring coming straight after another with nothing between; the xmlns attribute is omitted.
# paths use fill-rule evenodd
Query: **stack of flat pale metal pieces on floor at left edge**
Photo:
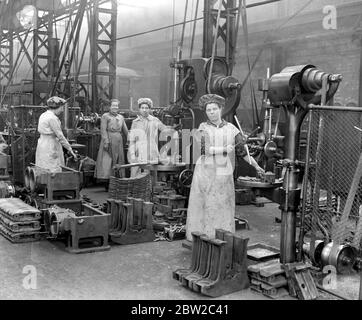
<svg viewBox="0 0 362 320"><path fill-rule="evenodd" d="M11 242L41 238L41 212L18 198L0 199L0 233Z"/></svg>

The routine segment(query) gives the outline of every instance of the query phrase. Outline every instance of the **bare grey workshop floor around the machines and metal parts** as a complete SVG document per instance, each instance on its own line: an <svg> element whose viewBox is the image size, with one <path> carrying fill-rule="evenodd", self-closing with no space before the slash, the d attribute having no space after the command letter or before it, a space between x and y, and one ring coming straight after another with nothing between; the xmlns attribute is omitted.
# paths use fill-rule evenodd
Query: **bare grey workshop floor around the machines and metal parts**
<svg viewBox="0 0 362 320"><path fill-rule="evenodd" d="M106 199L103 188L84 189L82 193L99 203ZM238 206L237 215L249 222L250 230L237 231L250 237L249 244L263 242L279 247L280 224L275 222L275 217L280 217L278 205ZM61 242L12 244L0 237L0 299L207 299L172 279L172 271L188 268L190 259L191 251L182 247L182 241L112 245L109 251L76 255L67 253ZM35 267L36 289L23 286L26 266ZM356 277L344 280L343 286L346 284L349 289L344 295L357 299ZM250 289L221 298L268 299Z"/></svg>

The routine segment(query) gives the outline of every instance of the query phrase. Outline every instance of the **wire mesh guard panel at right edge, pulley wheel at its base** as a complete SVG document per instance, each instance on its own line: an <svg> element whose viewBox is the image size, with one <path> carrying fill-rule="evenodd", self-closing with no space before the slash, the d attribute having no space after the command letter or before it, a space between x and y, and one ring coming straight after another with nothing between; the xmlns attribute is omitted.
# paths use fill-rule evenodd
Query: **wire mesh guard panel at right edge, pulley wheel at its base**
<svg viewBox="0 0 362 320"><path fill-rule="evenodd" d="M361 111L314 109L309 115L299 252L337 273L350 273L361 250Z"/></svg>

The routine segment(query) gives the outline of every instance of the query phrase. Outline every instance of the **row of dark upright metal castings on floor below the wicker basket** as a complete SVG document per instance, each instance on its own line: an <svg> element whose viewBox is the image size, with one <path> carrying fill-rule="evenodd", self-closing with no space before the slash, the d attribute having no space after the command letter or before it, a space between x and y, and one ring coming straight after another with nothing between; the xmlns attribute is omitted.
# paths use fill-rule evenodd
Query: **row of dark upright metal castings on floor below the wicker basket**
<svg viewBox="0 0 362 320"><path fill-rule="evenodd" d="M152 226L153 203L127 198L127 202L107 199L110 236L114 243L132 244L155 239Z"/></svg>

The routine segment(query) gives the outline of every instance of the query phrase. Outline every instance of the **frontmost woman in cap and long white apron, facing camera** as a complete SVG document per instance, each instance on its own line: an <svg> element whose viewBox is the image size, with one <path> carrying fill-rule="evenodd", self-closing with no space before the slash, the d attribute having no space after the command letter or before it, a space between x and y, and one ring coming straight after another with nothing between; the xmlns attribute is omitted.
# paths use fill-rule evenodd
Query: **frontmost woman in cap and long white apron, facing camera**
<svg viewBox="0 0 362 320"><path fill-rule="evenodd" d="M201 157L197 160L189 198L186 237L199 231L215 237L215 229L235 232L235 189L233 178L234 149L248 160L245 138L231 123L221 118L225 99L216 94L205 94L199 100L208 121L200 124L197 135L201 138ZM258 173L264 170L251 158Z"/></svg>

